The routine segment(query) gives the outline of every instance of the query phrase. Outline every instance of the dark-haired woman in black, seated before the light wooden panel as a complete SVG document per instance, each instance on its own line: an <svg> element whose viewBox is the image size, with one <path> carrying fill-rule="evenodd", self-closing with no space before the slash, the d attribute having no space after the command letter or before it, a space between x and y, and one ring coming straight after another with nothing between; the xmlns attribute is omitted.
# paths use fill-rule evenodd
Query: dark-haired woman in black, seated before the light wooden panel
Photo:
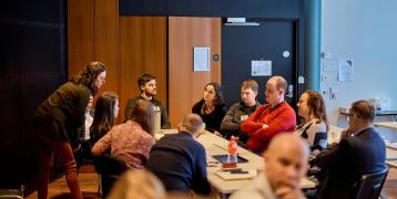
<svg viewBox="0 0 397 199"><path fill-rule="evenodd" d="M221 85L216 82L205 85L204 97L192 107L192 113L200 115L205 123L205 129L212 133L221 132L226 111Z"/></svg>

